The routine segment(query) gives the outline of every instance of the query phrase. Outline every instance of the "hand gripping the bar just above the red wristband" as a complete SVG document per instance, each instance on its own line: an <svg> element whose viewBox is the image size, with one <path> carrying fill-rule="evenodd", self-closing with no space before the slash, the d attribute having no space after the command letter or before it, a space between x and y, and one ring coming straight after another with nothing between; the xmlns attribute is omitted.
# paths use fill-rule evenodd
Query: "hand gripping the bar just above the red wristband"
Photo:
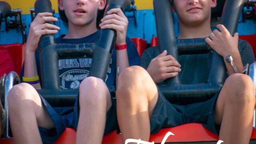
<svg viewBox="0 0 256 144"><path fill-rule="evenodd" d="M116 45L125 44L128 19L120 8L113 8L107 14L102 18L100 28L116 30Z"/></svg>

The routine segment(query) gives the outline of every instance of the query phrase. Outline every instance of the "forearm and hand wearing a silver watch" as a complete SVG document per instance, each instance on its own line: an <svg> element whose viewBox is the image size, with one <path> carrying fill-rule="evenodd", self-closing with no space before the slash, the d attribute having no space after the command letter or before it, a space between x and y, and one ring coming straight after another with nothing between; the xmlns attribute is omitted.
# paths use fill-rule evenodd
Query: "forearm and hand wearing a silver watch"
<svg viewBox="0 0 256 144"><path fill-rule="evenodd" d="M233 57L238 73L242 73L243 64L238 50L238 33L231 36L228 30L222 24L216 26L219 30L214 30L210 34L210 38L206 38L206 42L218 53L225 58L227 55ZM225 61L228 75L234 74L232 66Z"/></svg>

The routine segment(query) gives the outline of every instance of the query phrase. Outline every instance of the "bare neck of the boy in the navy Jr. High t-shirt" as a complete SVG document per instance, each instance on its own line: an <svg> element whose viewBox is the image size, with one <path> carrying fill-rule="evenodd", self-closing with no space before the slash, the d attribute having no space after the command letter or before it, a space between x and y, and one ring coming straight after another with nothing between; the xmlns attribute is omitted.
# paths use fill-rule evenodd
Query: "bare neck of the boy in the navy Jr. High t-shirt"
<svg viewBox="0 0 256 144"><path fill-rule="evenodd" d="M73 24L68 24L68 33L64 38L83 38L89 36L97 31L96 24L87 26L75 26Z"/></svg>

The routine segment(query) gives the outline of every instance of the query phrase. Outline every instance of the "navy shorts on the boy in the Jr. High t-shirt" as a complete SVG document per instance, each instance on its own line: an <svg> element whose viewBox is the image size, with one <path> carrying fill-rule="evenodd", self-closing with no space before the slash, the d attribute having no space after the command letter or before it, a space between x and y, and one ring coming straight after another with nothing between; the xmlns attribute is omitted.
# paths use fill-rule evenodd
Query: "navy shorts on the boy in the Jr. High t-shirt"
<svg viewBox="0 0 256 144"><path fill-rule="evenodd" d="M44 104L46 110L48 111L55 128L46 129L42 127L39 128L39 132L44 143L55 142L60 135L64 132L66 128L77 128L78 118L79 118L79 94L76 98L74 107L52 107L46 100L42 97L42 103ZM112 96L111 96L112 97ZM116 117L116 100L111 98L112 106L106 115L106 127L104 134L115 130L118 127L117 117Z"/></svg>

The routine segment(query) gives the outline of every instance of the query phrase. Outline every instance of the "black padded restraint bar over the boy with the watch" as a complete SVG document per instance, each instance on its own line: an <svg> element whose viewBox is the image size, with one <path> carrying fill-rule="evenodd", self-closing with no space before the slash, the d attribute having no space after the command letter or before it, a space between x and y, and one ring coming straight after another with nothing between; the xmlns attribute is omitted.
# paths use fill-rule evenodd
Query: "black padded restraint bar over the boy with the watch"
<svg viewBox="0 0 256 144"><path fill-rule="evenodd" d="M232 35L236 32L242 6L246 2L247 0L226 0L225 2L221 22ZM154 11L160 52L167 50L168 54L178 60L178 54L201 54L211 50L203 42L203 39L176 40L170 0L154 0ZM176 76L165 80L164 84L159 86L159 89L172 103L202 102L208 100L220 90L225 78L224 60L222 56L214 51L210 73L205 83L181 84L179 76Z"/></svg>

